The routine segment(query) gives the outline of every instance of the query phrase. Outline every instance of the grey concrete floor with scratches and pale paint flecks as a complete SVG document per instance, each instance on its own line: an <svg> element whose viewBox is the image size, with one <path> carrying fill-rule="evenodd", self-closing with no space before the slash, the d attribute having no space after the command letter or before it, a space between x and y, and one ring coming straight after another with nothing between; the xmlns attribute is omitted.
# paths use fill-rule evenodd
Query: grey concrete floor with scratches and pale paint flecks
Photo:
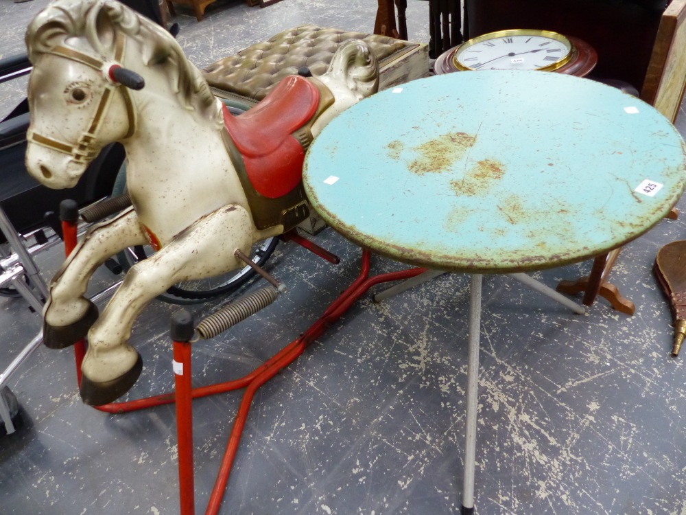
<svg viewBox="0 0 686 515"><path fill-rule="evenodd" d="M0 54L21 52L24 27L45 3L1 0ZM202 23L177 9L179 41L202 67L299 23L370 31L375 2L285 0L260 10L220 0ZM411 1L410 14L411 37L427 41L426 4ZM10 84L0 89L3 112L25 87ZM685 237L684 220L663 220L622 252L612 282L637 305L633 317L602 299L589 314L574 315L512 279L485 278L478 514L686 515L686 368L669 356L670 313L651 272L658 249ZM359 249L331 229L314 240L342 263L281 244L268 268L289 293L197 343L195 385L246 374L353 280ZM51 276L60 251L39 262ZM372 261L372 273L402 268ZM554 286L589 269L587 262L534 277ZM114 279L97 273L93 290ZM193 312L200 318L221 302ZM458 513L468 302L464 275L444 275L383 304L370 295L358 301L257 393L221 513ZM145 369L128 398L171 388L167 334L175 309L154 301L134 326ZM0 299L0 367L39 327L23 300ZM1 514L178 513L173 407L106 415L84 406L71 350L41 347L10 386L25 427L0 439ZM194 403L198 512L240 395Z"/></svg>

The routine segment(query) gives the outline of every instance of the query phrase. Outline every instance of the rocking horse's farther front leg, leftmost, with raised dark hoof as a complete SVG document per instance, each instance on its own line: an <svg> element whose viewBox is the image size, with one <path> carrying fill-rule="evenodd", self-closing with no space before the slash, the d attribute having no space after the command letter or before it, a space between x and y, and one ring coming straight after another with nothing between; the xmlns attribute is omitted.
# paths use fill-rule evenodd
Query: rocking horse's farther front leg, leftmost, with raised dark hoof
<svg viewBox="0 0 686 515"><path fill-rule="evenodd" d="M86 336L97 320L97 307L84 297L98 266L117 252L147 243L133 207L88 230L50 283L43 310L43 343L63 349Z"/></svg>

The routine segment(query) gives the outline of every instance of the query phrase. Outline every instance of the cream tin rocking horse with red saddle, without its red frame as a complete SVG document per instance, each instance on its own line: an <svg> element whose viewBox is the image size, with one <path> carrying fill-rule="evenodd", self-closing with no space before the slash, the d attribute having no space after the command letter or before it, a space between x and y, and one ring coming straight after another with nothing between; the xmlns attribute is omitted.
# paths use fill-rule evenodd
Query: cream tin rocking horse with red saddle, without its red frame
<svg viewBox="0 0 686 515"><path fill-rule="evenodd" d="M333 117L375 93L377 60L362 41L348 42L324 75L287 76L232 117L174 38L115 0L56 0L30 23L26 43L32 176L71 187L103 146L126 148L132 207L86 233L52 280L43 313L50 348L88 335L80 393L86 404L105 404L141 374L127 341L150 299L244 266L237 250L249 253L309 215L305 150ZM84 298L88 279L141 244L156 254L126 274L99 315Z"/></svg>

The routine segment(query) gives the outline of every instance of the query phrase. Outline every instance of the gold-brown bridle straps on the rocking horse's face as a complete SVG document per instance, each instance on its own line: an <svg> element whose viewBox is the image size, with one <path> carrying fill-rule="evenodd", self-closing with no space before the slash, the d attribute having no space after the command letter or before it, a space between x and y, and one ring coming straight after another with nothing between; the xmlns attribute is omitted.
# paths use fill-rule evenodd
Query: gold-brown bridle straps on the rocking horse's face
<svg viewBox="0 0 686 515"><path fill-rule="evenodd" d="M91 123L88 124L88 129L85 130L84 133L82 133L81 137L79 138L78 144L72 145L69 143L65 143L64 141L59 141L58 139L38 134L31 129L27 131L26 139L40 146L51 148L52 150L57 150L58 152L62 152L63 154L69 154L71 155L73 161L75 161L76 163L89 163L99 153L99 150L93 150L90 147L93 141L95 140L95 137L97 136L98 130L102 126L102 121L105 117L107 107L110 104L110 100L112 99L112 93L115 91L115 88L117 87L119 87L119 91L121 92L121 95L123 97L124 104L126 104L126 114L128 115L128 131L124 138L126 139L128 137L131 137L136 132L136 110L134 108L133 100L128 91L128 87L123 86L123 84L115 82L115 79L113 78L114 69L121 68L121 65L119 65L119 63L123 58L124 43L125 40L123 34L121 34L120 32L117 34L117 41L115 43L115 62L103 62L99 59L93 58L91 56L88 56L87 54L79 52L78 50L69 47L64 47L62 45L58 45L53 49L49 50L47 54L53 54L55 56L64 57L69 60L80 62L83 65L86 65L97 71L102 72L102 74L106 77L105 91L103 91L102 93L102 97L100 98L100 102L97 108L95 109L95 115L93 116Z"/></svg>

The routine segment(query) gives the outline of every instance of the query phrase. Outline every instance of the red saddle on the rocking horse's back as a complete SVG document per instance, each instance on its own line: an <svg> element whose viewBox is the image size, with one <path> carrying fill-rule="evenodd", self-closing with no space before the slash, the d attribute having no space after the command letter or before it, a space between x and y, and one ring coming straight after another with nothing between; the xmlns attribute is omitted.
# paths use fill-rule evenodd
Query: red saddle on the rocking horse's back
<svg viewBox="0 0 686 515"><path fill-rule="evenodd" d="M307 123L318 105L314 84L288 76L246 113L232 116L224 106L224 125L259 194L278 198L300 183L305 152L291 134Z"/></svg>

